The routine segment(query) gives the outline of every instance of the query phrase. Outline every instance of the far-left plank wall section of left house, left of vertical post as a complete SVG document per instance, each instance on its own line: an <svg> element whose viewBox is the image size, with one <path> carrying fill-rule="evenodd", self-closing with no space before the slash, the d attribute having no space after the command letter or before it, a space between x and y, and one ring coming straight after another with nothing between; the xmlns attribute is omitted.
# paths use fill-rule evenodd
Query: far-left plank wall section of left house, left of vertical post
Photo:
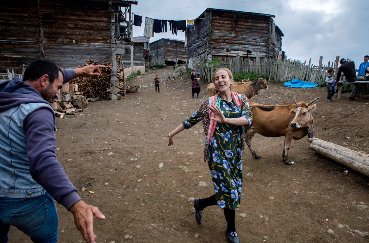
<svg viewBox="0 0 369 243"><path fill-rule="evenodd" d="M0 11L0 72L20 73L39 55L37 1L2 1Z"/></svg>

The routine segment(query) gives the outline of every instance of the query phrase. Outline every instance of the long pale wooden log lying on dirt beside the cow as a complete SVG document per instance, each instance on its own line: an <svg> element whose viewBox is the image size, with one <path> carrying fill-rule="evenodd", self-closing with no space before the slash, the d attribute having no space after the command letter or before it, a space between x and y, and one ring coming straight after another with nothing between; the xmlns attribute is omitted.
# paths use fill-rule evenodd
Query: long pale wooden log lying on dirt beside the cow
<svg viewBox="0 0 369 243"><path fill-rule="evenodd" d="M359 173L369 176L369 156L318 138L308 139L310 149Z"/></svg>

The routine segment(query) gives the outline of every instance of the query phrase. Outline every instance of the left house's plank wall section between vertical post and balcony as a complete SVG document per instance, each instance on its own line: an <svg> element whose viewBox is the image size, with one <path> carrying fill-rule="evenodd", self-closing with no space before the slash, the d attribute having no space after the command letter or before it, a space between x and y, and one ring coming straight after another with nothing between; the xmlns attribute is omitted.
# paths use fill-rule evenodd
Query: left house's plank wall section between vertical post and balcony
<svg viewBox="0 0 369 243"><path fill-rule="evenodd" d="M40 0L39 11L46 58L73 68L110 53L107 3ZM78 40L73 43L75 39Z"/></svg>

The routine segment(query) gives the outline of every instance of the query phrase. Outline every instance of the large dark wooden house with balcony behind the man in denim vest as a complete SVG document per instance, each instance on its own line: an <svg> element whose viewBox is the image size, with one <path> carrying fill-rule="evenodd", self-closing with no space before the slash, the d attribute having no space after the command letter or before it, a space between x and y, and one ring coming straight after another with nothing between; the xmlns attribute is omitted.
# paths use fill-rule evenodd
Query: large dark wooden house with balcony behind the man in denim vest
<svg viewBox="0 0 369 243"><path fill-rule="evenodd" d="M109 55L122 56L125 67L136 60L132 37L132 5L137 0L13 0L1 3L0 72L20 72L39 58L54 60L61 67L75 68L88 59L95 62ZM117 22L118 11L125 22ZM124 25L119 28L119 25ZM121 35L118 35L118 28ZM124 31L124 32L123 32ZM114 62L115 55L109 56ZM139 56L142 61L142 55Z"/></svg>

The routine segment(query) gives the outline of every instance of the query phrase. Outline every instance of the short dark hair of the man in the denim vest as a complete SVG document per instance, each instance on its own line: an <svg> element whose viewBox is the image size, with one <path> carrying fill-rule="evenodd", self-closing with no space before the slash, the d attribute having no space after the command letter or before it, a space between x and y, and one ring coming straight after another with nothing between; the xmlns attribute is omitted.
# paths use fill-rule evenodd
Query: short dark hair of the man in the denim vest
<svg viewBox="0 0 369 243"><path fill-rule="evenodd" d="M48 74L49 83L53 84L55 79L58 79L59 72L62 72L62 69L56 65L55 62L49 59L38 59L35 60L28 66L24 71L23 80L26 81L36 81L42 75ZM63 79L64 79L64 73Z"/></svg>

